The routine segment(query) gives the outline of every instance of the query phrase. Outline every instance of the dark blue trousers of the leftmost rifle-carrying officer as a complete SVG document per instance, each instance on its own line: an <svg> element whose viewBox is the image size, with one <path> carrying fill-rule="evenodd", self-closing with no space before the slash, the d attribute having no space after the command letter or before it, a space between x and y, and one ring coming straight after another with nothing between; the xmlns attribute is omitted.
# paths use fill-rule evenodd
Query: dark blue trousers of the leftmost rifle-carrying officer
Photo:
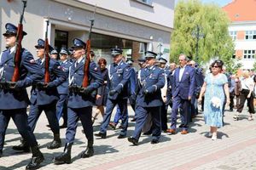
<svg viewBox="0 0 256 170"><path fill-rule="evenodd" d="M0 110L0 150L3 150L4 136L10 118L15 122L15 126L23 139L27 140L30 146L38 145L31 127L28 126L26 108L15 110Z"/></svg>

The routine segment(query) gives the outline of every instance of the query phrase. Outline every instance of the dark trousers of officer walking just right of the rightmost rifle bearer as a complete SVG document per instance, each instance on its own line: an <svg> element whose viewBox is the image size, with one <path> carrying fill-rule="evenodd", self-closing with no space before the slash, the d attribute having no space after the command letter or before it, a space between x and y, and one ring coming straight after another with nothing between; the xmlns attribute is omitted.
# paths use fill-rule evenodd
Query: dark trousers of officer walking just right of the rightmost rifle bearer
<svg viewBox="0 0 256 170"><path fill-rule="evenodd" d="M121 135L126 135L128 127L128 114L127 114L127 99L108 99L107 108L103 116L103 122L101 126L100 133L106 133L108 124L110 122L111 114L115 105L119 106L120 117L122 119L123 128L121 130Z"/></svg>

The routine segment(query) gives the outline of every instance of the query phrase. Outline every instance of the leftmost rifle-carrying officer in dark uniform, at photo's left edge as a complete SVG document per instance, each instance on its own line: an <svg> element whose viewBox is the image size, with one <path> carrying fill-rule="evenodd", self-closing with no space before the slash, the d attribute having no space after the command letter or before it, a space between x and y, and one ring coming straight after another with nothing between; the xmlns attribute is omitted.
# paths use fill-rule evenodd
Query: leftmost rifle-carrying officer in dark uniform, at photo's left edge
<svg viewBox="0 0 256 170"><path fill-rule="evenodd" d="M38 82L44 77L44 73L33 59L32 54L22 48L19 80L8 83L11 81L15 70L14 56L17 27L8 23L5 28L6 32L3 33L3 36L8 49L0 54L0 157L2 156L5 131L10 118L12 118L20 135L27 140L27 145L32 150L32 160L26 166L26 169L34 169L44 161L44 156L38 148L38 142L32 133L32 129L27 123L26 107L29 104L29 99L26 87ZM26 36L25 31L23 31L23 36Z"/></svg>

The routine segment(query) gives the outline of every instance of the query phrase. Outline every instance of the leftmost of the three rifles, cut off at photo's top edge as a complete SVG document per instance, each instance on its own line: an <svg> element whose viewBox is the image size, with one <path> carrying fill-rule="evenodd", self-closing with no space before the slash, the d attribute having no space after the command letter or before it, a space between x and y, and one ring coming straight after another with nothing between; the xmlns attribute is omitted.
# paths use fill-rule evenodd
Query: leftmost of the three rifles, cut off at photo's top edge
<svg viewBox="0 0 256 170"><path fill-rule="evenodd" d="M26 8L26 0L22 0L22 3L23 3L23 9L22 9L22 13L20 15L20 23L18 25L17 36L16 36L16 48L15 48L15 59L14 59L15 72L14 72L11 82L17 82L20 78L20 61L21 61L21 50L22 50L21 41L23 38L22 21L24 18L24 11Z"/></svg>

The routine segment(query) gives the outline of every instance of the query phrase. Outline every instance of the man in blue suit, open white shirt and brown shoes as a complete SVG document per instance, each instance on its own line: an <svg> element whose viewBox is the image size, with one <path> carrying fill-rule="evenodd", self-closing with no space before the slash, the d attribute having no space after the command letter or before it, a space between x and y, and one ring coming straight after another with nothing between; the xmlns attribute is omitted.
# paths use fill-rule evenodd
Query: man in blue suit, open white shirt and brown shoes
<svg viewBox="0 0 256 170"><path fill-rule="evenodd" d="M179 64L173 76L172 84L172 120L168 133L175 134L177 127L177 111L180 109L182 134L188 133L190 102L195 90L195 69L187 65L185 54L179 55Z"/></svg>

